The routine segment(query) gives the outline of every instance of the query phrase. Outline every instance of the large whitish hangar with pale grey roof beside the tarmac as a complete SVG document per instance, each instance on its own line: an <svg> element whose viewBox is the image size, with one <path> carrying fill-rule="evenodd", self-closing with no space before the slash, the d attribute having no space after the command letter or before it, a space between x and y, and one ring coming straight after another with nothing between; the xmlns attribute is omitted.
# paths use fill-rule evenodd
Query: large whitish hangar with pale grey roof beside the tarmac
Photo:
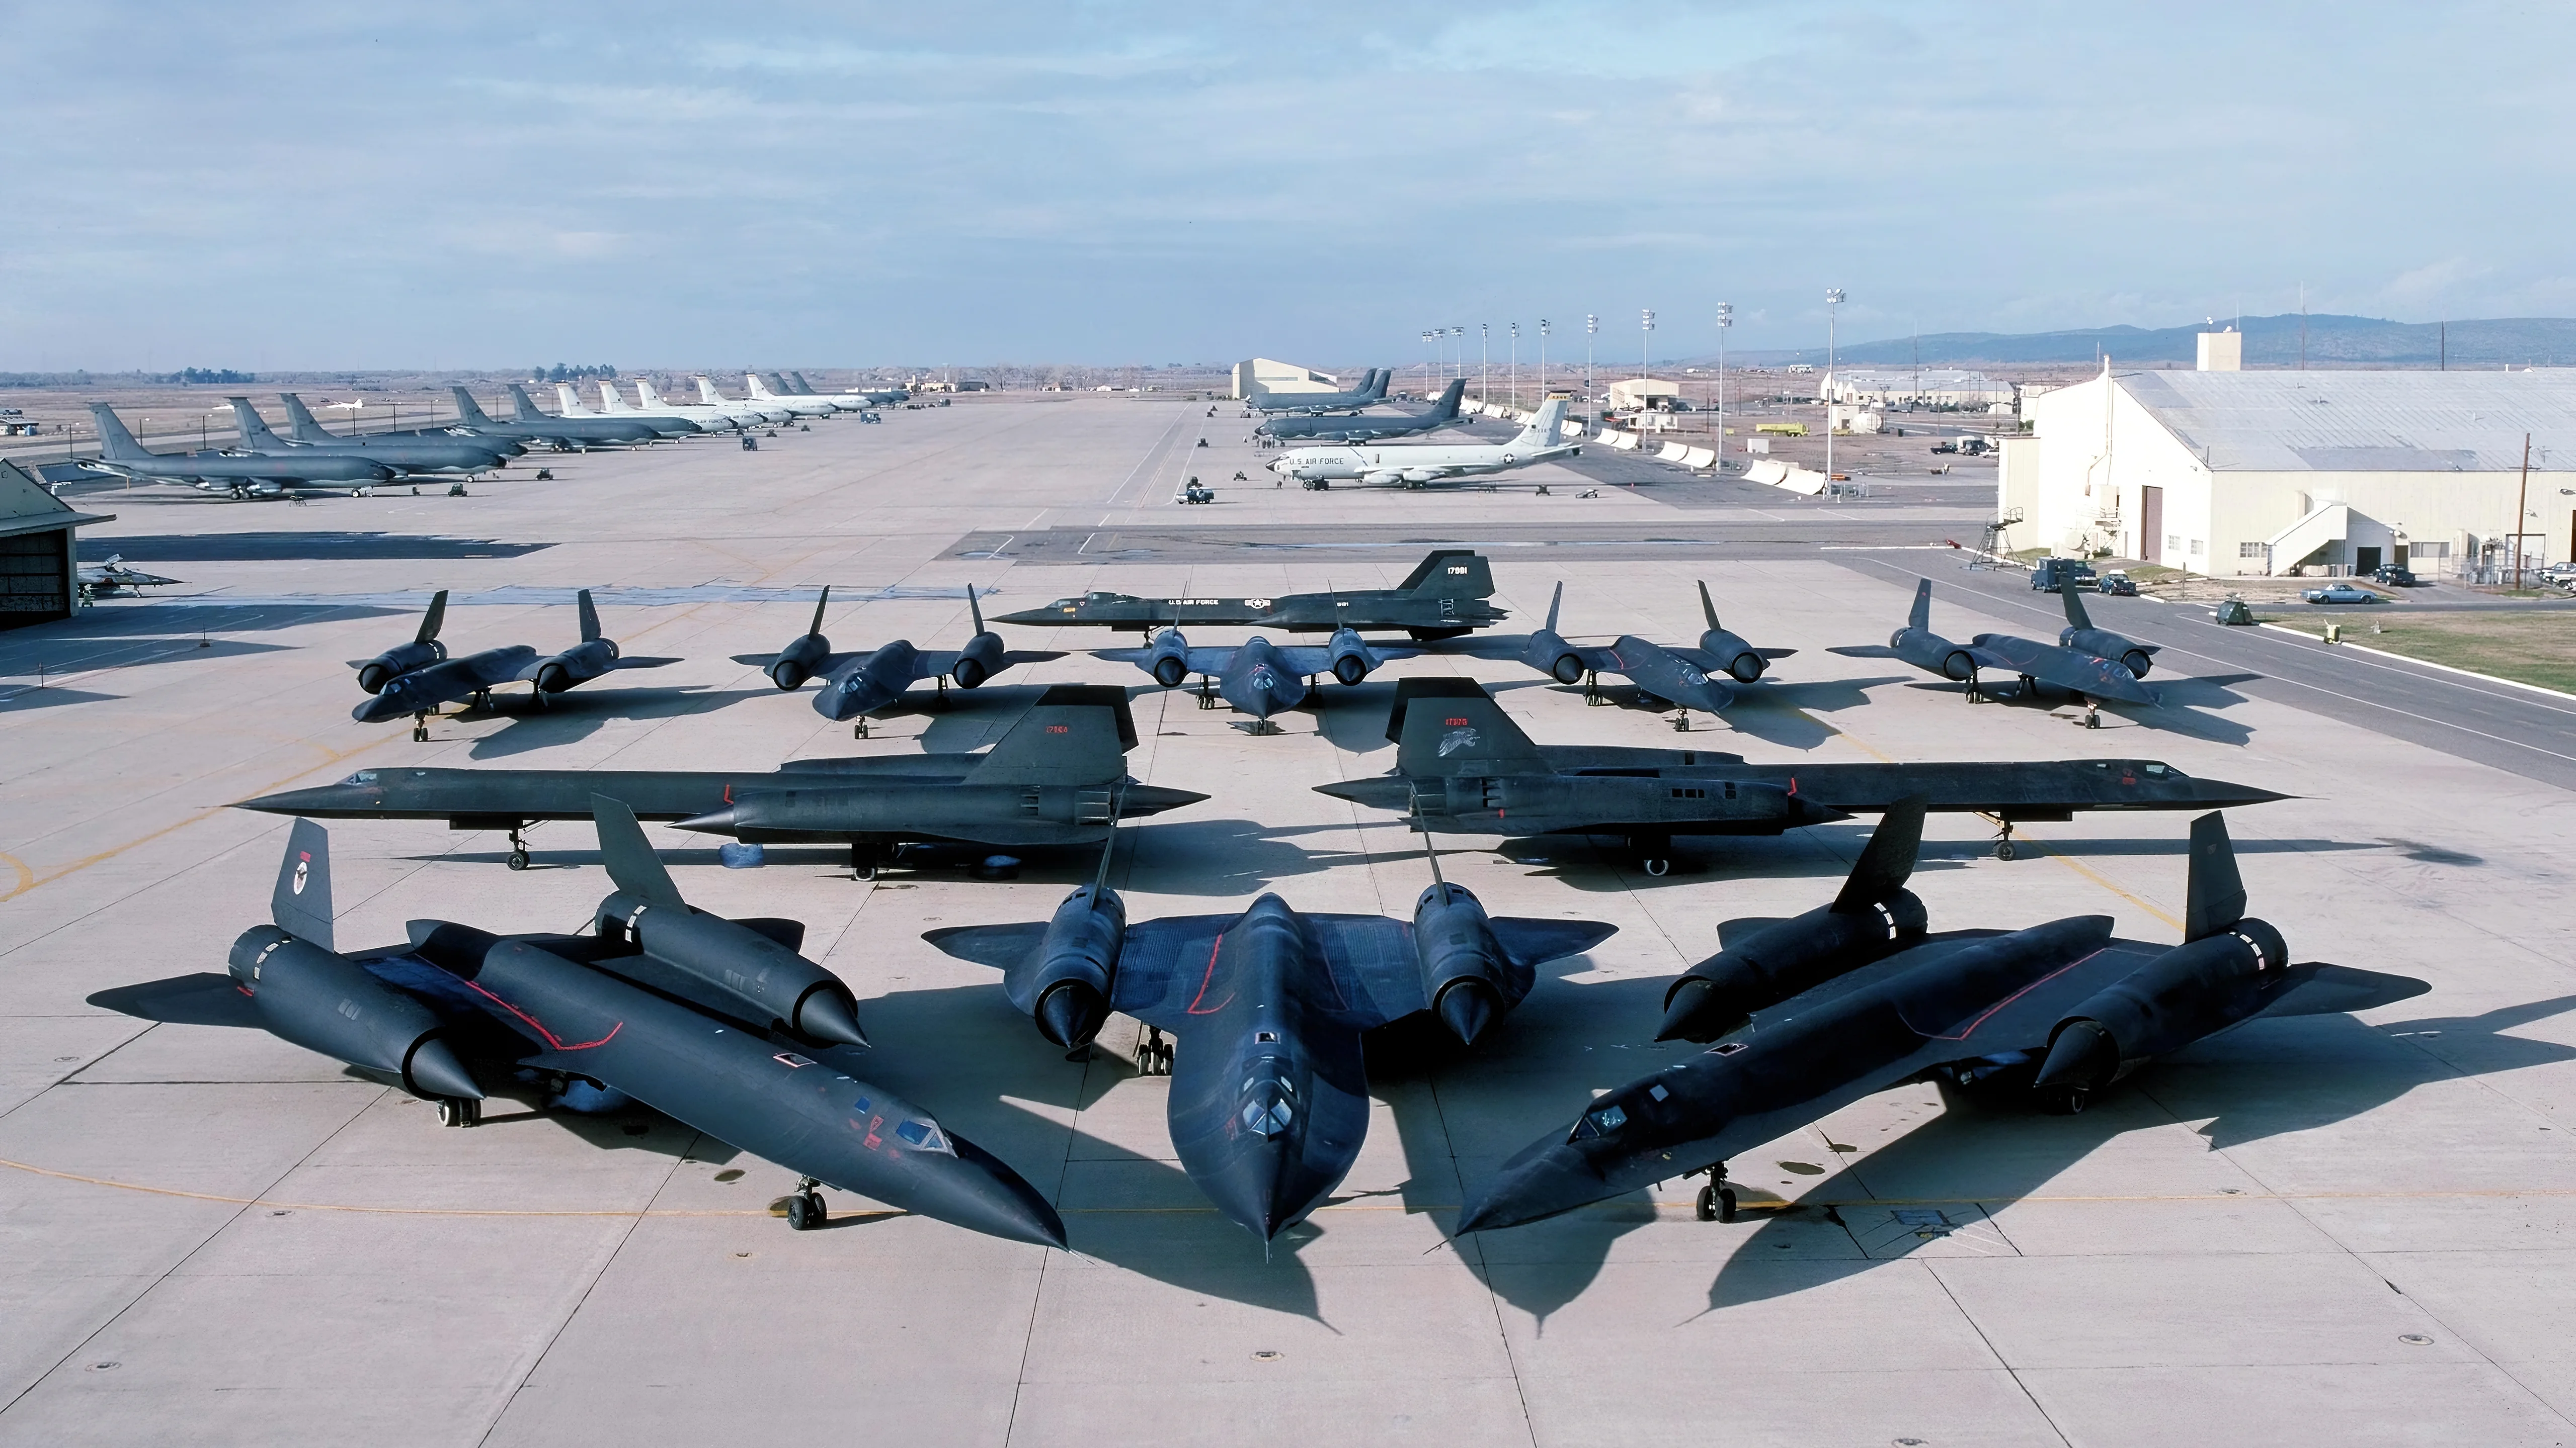
<svg viewBox="0 0 2576 1448"><path fill-rule="evenodd" d="M2576 371L2239 371L2236 332L2200 343L2200 371L2105 361L2022 397L2017 544L2221 577L2494 575L2514 536L2524 567L2576 554Z"/></svg>

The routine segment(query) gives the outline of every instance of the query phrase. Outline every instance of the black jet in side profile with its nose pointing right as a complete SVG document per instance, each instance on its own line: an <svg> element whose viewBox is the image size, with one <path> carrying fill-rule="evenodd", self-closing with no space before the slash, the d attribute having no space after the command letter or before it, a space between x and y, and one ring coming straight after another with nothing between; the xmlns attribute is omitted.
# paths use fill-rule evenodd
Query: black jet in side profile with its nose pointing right
<svg viewBox="0 0 2576 1448"><path fill-rule="evenodd" d="M2231 809L2287 799L2156 760L2032 760L1922 765L1752 765L1716 750L1533 745L1463 678L1396 683L1386 721L1394 773L1314 786L1319 794L1414 814L1445 835L1625 835L1646 873L1672 868L1674 835L1777 835L1850 814L1880 814L1922 794L1937 812L2012 827L2094 809Z"/></svg>

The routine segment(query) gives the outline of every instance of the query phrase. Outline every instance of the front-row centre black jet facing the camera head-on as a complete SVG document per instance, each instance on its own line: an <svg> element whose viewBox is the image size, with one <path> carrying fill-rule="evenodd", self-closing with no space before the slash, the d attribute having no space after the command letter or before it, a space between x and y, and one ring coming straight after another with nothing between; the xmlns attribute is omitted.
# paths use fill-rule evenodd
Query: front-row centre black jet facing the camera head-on
<svg viewBox="0 0 2576 1448"><path fill-rule="evenodd" d="M1360 1033L1432 1013L1473 1043L1520 1005L1535 969L1610 938L1595 920L1492 920L1437 879L1414 917L1298 915L1262 894L1242 915L1128 925L1100 879L1054 920L956 925L922 938L1002 971L1038 1033L1082 1049L1113 1010L1149 1028L1149 1069L1170 1069L1180 1167L1265 1250L1342 1183L1368 1134ZM1162 1043L1159 1033L1172 1041Z"/></svg>

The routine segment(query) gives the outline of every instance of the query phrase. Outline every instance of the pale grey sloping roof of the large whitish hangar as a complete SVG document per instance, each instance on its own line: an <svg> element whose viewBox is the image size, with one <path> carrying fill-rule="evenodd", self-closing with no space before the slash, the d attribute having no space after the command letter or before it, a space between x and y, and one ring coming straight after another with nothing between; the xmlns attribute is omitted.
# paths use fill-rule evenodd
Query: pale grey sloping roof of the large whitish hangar
<svg viewBox="0 0 2576 1448"><path fill-rule="evenodd" d="M2576 371L2115 374L2213 472L2576 469Z"/></svg>

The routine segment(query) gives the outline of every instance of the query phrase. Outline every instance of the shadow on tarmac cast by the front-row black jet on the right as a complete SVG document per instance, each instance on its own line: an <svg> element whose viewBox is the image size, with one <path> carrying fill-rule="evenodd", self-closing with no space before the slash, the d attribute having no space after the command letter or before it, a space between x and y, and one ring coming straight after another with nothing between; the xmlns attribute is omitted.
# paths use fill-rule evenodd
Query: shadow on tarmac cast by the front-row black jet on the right
<svg viewBox="0 0 2576 1448"><path fill-rule="evenodd" d="M2223 1152L2362 1116L2421 1085L2571 1062L2576 1046L2506 1033L2568 1010L2576 1010L2576 997L2385 1025L2365 1025L2349 1015L2257 1020L2143 1069L2081 1116L2045 1116L2020 1098L1945 1092L1940 1116L1806 1193L1837 1206L1793 1206L1759 1216L1759 1226L1710 1281L1708 1309L1847 1278L1953 1234L2012 1255L2012 1242L1989 1211L2045 1193L2050 1180L2128 1131L2208 1121L2200 1136L2213 1152ZM1772 1167L1775 1162L1744 1162L1741 1175L1770 1183ZM1870 1198L1891 1206L1870 1206ZM1579 1239L1607 1252L1618 1234L1646 1216L1625 1226L1605 1221ZM1589 1268L1597 1273L1600 1260L1589 1260Z"/></svg>

